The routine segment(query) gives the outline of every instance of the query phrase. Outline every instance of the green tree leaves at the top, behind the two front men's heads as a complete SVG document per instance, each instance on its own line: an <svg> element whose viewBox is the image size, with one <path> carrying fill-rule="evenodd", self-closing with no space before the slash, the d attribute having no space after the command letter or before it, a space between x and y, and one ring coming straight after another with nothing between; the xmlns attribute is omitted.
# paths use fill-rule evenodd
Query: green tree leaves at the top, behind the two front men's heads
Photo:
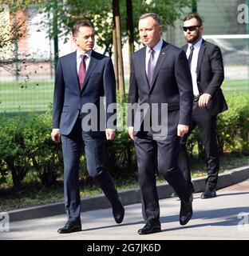
<svg viewBox="0 0 249 256"><path fill-rule="evenodd" d="M43 6L46 11L53 13L54 9L57 14L57 29L54 30L50 26L49 36L53 38L54 34L60 36L69 34L73 24L80 19L89 19L94 23L97 31L97 45L101 46L103 53L112 54L113 46L113 1L111 0L85 0L74 1L68 0L66 5L64 2L57 2L57 6L53 1L44 2ZM133 12L133 24L135 30L135 41L139 42L138 36L138 18L141 14L146 12L154 12L162 19L164 30L166 26L172 25L176 18L180 18L183 14L183 10L187 6L191 6L192 0L152 0L152 1L132 1ZM40 6L41 7L41 6ZM81 10L81 11L79 11ZM122 30L122 42L126 42L127 30L126 30L126 1L120 1L120 14L121 14L121 30ZM52 18L52 15L49 16ZM42 21L44 22L44 21ZM52 22L51 22L52 24Z"/></svg>

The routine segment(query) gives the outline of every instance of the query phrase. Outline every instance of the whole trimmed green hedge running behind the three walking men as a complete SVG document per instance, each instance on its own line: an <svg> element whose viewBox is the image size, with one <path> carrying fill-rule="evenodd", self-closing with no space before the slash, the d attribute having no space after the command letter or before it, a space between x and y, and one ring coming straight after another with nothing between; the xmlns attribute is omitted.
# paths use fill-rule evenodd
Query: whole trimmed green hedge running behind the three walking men
<svg viewBox="0 0 249 256"><path fill-rule="evenodd" d="M229 110L218 117L219 151L248 154L249 94L227 94L226 99ZM35 172L45 186L62 177L61 145L52 142L51 127L51 106L45 114L0 118L0 185L11 175L13 186L21 186L28 172ZM191 134L188 150L190 154L204 154L200 130ZM136 154L127 130L117 132L113 142L106 142L106 165L115 178L125 180L136 174ZM84 156L81 175L87 175Z"/></svg>

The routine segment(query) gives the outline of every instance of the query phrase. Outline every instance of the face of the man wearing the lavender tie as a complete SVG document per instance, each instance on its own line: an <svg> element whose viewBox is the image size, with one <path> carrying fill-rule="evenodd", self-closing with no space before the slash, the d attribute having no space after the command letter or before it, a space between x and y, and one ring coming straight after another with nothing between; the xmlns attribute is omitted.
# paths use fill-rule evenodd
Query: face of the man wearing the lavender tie
<svg viewBox="0 0 249 256"><path fill-rule="evenodd" d="M153 48L160 41L162 26L159 26L152 17L141 19L138 30L140 39L145 46Z"/></svg>

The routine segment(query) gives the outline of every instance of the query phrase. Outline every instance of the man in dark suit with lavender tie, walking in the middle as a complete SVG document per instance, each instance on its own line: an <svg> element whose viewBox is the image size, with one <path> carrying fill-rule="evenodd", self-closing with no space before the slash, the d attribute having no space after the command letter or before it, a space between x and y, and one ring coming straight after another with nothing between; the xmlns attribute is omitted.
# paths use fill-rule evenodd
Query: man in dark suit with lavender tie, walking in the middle
<svg viewBox="0 0 249 256"><path fill-rule="evenodd" d="M145 46L132 54L128 94L128 117L132 120L128 134L136 148L143 215L147 221L138 234L151 234L161 230L157 170L180 198L180 225L192 218L192 193L177 166L179 136L188 132L192 114L192 81L184 50L160 38L162 26L156 14L140 16L139 33Z"/></svg>

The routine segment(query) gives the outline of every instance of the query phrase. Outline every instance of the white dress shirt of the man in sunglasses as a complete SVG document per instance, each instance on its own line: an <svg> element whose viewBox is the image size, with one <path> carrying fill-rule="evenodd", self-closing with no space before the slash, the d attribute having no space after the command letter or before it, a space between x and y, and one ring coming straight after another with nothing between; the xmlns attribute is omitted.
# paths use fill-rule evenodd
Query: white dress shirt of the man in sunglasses
<svg viewBox="0 0 249 256"><path fill-rule="evenodd" d="M191 75L192 75L193 93L195 96L200 95L200 92L199 92L198 86L197 86L197 62L198 62L198 55L199 55L200 46L201 46L202 41L203 41L203 39L200 38L200 40L193 45L195 49L193 51L192 62L191 62ZM192 44L189 43L188 50L186 52L187 58L190 54L191 46L192 46Z"/></svg>

